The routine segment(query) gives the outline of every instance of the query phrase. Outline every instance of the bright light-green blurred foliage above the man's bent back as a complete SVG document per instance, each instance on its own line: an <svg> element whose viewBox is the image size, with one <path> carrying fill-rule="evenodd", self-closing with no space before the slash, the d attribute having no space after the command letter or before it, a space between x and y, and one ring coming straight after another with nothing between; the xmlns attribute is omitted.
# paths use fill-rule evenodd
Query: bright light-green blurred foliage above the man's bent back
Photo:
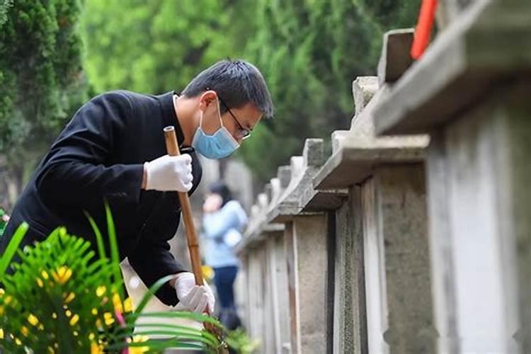
<svg viewBox="0 0 531 354"><path fill-rule="evenodd" d="M229 13L217 0L87 0L86 71L97 91L181 91L200 69L232 55ZM126 11L124 11L126 10Z"/></svg>

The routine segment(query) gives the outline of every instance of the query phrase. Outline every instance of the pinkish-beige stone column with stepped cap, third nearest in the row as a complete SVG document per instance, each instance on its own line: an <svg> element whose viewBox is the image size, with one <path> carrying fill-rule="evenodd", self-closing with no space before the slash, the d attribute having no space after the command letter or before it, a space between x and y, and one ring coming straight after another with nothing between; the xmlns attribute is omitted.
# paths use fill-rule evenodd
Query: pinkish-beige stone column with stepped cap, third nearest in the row
<svg viewBox="0 0 531 354"><path fill-rule="evenodd" d="M285 224L292 353L326 353L329 336L329 231L324 212L304 212L301 199L321 166L321 139L307 139L302 156L291 159L290 182L270 209L269 222ZM279 180L285 169L279 169ZM282 182L281 182L282 183Z"/></svg>

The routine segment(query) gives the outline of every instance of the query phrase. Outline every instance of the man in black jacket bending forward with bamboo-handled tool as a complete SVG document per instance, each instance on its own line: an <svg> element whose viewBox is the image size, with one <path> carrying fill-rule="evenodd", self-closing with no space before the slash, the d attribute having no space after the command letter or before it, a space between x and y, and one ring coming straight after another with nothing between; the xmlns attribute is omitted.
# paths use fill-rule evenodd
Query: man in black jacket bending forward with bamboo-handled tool
<svg viewBox="0 0 531 354"><path fill-rule="evenodd" d="M273 114L270 93L252 64L224 60L201 72L178 96L112 91L83 105L38 166L13 208L0 254L21 222L23 245L42 241L55 227L96 244L84 211L105 228L103 202L115 221L120 257L149 287L176 275L156 293L162 302L212 313L208 285L195 285L169 252L180 207L176 192L193 193L201 178L195 152L209 159L232 154L263 115ZM163 128L176 128L181 156L168 156ZM22 245L22 246L23 246Z"/></svg>

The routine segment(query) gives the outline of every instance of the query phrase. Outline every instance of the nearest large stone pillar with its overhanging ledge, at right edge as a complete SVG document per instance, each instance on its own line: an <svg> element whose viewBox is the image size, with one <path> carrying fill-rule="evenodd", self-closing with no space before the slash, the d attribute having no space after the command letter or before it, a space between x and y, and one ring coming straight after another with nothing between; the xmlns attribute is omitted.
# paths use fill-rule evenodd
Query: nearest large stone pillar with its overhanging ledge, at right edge
<svg viewBox="0 0 531 354"><path fill-rule="evenodd" d="M475 1L375 108L377 132L431 136L440 353L531 351L530 13Z"/></svg>

